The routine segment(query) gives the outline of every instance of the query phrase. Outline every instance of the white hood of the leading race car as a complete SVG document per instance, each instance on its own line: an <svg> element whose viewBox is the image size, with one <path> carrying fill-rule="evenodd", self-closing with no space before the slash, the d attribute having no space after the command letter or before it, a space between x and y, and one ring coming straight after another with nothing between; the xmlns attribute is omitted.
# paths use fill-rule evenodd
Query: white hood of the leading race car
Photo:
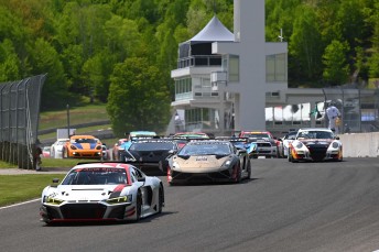
<svg viewBox="0 0 379 252"><path fill-rule="evenodd" d="M104 200L115 193L118 195L126 185L59 185L50 197L62 200Z"/></svg>

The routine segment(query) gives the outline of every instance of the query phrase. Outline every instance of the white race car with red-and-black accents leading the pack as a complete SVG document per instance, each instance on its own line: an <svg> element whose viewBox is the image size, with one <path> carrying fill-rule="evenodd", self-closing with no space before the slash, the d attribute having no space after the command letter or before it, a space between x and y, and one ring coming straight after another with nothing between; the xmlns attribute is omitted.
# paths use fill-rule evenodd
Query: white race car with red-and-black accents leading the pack
<svg viewBox="0 0 379 252"><path fill-rule="evenodd" d="M138 221L162 212L164 188L160 178L130 164L84 163L73 167L59 185L45 187L41 204L41 220L46 223Z"/></svg>

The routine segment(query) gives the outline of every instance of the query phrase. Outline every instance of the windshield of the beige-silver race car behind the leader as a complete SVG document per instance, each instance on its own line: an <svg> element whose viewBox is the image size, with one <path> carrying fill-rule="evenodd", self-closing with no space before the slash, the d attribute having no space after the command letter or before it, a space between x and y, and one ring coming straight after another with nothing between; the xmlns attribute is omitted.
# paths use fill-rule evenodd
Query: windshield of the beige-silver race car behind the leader
<svg viewBox="0 0 379 252"><path fill-rule="evenodd" d="M177 153L178 155L229 155L228 144L187 144Z"/></svg>

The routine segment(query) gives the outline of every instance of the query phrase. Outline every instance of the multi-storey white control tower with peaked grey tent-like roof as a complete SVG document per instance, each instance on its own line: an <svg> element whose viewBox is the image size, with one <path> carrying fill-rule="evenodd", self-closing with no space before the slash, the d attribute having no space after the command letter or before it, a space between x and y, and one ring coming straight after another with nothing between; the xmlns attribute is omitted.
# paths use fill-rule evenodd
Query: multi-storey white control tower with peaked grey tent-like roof
<svg viewBox="0 0 379 252"><path fill-rule="evenodd" d="M264 94L288 88L286 43L266 43L264 0L234 4L234 33L214 17L180 45L176 131L264 130Z"/></svg>

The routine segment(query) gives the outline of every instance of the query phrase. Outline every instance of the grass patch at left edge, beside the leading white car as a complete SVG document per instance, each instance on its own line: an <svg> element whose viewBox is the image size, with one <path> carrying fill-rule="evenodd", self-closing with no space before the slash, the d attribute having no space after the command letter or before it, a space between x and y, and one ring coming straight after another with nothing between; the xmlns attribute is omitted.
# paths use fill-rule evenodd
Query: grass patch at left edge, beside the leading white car
<svg viewBox="0 0 379 252"><path fill-rule="evenodd" d="M64 174L0 175L0 207L39 198L43 188L52 184L53 178L63 177Z"/></svg>

